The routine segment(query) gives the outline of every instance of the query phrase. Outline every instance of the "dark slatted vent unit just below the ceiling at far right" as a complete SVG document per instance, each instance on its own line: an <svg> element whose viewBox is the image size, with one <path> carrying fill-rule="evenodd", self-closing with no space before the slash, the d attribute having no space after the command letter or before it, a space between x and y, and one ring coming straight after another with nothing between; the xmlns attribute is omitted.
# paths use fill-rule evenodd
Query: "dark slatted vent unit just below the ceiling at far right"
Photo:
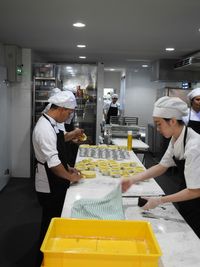
<svg viewBox="0 0 200 267"><path fill-rule="evenodd" d="M179 60L174 64L174 69L200 71L200 52Z"/></svg>

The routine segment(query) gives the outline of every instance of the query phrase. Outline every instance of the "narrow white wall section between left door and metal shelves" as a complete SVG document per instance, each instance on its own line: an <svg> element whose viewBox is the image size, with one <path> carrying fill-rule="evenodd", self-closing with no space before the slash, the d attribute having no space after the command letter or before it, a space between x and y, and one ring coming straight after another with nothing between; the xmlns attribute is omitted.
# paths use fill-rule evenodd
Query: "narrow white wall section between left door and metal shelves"
<svg viewBox="0 0 200 267"><path fill-rule="evenodd" d="M11 84L11 174L30 177L31 50L22 49L21 83Z"/></svg>

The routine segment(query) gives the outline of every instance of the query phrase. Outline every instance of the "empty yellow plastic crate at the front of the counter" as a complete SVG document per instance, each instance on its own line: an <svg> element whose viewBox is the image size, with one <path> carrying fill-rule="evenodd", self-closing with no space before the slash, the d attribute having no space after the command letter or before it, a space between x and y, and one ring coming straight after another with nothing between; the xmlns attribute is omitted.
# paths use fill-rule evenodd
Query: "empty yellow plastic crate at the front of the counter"
<svg viewBox="0 0 200 267"><path fill-rule="evenodd" d="M162 255L149 222L51 220L44 267L155 267Z"/></svg>

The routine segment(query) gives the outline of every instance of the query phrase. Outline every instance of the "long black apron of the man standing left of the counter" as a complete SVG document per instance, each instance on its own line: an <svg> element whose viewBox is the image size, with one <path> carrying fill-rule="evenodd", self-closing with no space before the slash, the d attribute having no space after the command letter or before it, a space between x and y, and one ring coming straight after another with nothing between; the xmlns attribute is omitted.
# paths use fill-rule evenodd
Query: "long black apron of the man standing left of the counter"
<svg viewBox="0 0 200 267"><path fill-rule="evenodd" d="M50 122L49 118L43 114L43 116ZM54 125L51 124L54 128ZM67 159L65 153L65 140L64 140L64 132L59 130L57 135L57 150L58 157L65 167L68 170ZM39 164L42 164L39 162ZM55 175L51 169L47 166L47 163L43 164L45 166L45 170L47 173L50 193L41 193L37 192L38 200L40 205L42 206L42 220L41 220L41 229L40 229L40 237L39 237L39 248L43 242L46 231L48 229L49 223L52 218L60 217L62 213L62 208L65 200L66 191L70 186L70 181L63 179L57 175ZM37 266L41 266L43 255L39 251L37 257Z"/></svg>

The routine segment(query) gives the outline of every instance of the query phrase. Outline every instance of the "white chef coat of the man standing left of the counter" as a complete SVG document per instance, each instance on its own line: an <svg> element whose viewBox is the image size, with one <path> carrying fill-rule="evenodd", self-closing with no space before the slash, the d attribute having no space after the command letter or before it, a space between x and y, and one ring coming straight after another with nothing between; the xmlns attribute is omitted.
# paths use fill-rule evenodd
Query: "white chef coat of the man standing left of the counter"
<svg viewBox="0 0 200 267"><path fill-rule="evenodd" d="M61 163L57 150L57 135L61 128L53 118L45 114L50 122L41 116L33 130L33 147L36 159L41 163L47 163L48 167L55 167ZM38 163L35 175L35 188L37 192L49 193L50 187L44 165Z"/></svg>

